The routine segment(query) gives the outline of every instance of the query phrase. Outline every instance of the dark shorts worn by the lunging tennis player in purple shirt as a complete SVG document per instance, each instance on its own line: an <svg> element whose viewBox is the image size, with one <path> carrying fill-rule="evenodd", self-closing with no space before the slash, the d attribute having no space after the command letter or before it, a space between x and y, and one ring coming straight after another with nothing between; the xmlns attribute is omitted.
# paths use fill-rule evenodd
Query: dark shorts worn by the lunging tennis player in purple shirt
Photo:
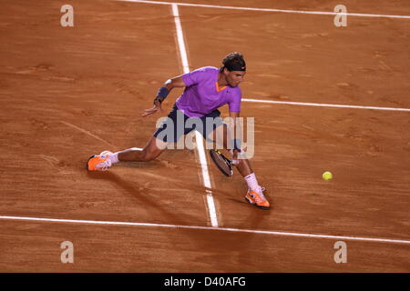
<svg viewBox="0 0 410 291"><path fill-rule="evenodd" d="M212 131L223 124L218 109L202 117L189 117L174 105L154 136L167 143L176 143L182 135L187 135L195 129L206 139Z"/></svg>

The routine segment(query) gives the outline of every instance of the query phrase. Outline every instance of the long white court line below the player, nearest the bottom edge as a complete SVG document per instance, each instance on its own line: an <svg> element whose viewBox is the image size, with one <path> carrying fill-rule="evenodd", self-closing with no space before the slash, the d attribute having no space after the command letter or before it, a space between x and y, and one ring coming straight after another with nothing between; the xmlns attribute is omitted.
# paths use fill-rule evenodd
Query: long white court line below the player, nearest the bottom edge
<svg viewBox="0 0 410 291"><path fill-rule="evenodd" d="M229 231L229 232L235 232L235 233L250 233L250 234L261 234L261 235L271 235L271 236L296 236L296 237L305 237L305 238L325 238L325 239L335 239L335 240L355 240L355 241L374 242L374 243L410 245L410 240L404 240L404 239L364 237L364 236L327 236L327 235L289 233L289 232L282 232L282 231L253 230L253 229L241 229L241 228L229 228L229 227L178 226L178 225L149 224L149 223L138 223L138 222L39 218L39 217L25 217L25 216L0 216L0 219L102 225L102 226L153 226L153 227L181 228L181 229L220 230L220 231Z"/></svg>

